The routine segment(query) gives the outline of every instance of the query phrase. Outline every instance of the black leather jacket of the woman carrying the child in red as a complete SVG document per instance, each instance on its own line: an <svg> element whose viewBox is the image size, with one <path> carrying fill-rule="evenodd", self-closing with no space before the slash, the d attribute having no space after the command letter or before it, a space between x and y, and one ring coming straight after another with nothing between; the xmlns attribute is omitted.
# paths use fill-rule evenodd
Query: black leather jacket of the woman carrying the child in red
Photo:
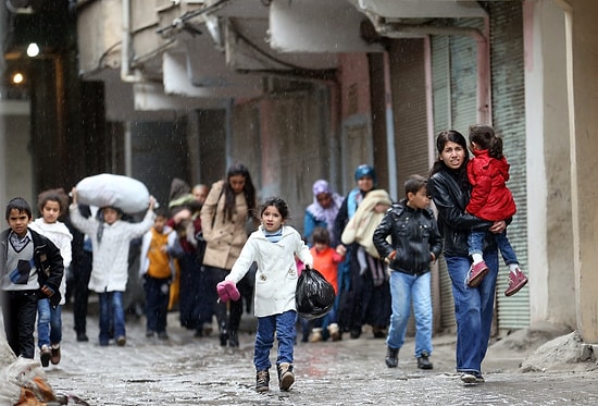
<svg viewBox="0 0 598 406"><path fill-rule="evenodd" d="M469 257L468 235L472 230L488 230L493 222L465 211L471 190L463 190L456 174L443 169L427 182L427 193L438 209L438 229L445 238L445 256ZM496 249L491 233L487 233L484 251Z"/></svg>

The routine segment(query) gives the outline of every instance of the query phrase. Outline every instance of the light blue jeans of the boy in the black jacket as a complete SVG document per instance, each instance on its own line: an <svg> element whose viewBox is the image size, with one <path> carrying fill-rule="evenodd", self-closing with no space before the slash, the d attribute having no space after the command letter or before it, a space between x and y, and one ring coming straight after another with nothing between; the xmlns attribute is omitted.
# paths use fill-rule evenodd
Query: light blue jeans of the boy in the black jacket
<svg viewBox="0 0 598 406"><path fill-rule="evenodd" d="M404 343L407 322L413 300L415 317L415 358L422 353L432 355L432 293L431 272L410 275L399 271L390 273L390 295L393 297L393 315L386 345L390 348L401 348Z"/></svg>

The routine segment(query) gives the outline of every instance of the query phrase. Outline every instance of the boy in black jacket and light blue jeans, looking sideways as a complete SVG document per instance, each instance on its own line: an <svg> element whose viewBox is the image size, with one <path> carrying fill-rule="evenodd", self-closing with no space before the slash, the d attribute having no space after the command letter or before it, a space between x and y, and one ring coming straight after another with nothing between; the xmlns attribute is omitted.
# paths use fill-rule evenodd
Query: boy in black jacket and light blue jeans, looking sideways
<svg viewBox="0 0 598 406"><path fill-rule="evenodd" d="M413 299L418 368L432 369L432 295L429 263L443 249L434 213L427 207L426 180L411 175L404 183L406 199L393 205L374 232L374 245L390 269L393 316L386 345L386 366L396 368ZM391 244L387 242L390 236Z"/></svg>

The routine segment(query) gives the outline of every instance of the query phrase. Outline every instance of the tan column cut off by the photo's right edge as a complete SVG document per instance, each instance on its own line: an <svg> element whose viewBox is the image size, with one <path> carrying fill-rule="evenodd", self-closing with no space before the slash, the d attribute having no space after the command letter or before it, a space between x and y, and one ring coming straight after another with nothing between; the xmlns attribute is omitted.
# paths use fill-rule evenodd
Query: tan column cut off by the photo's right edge
<svg viewBox="0 0 598 406"><path fill-rule="evenodd" d="M576 328L586 343L598 343L598 7L591 0L570 0L566 3L560 0L558 4L563 8L571 5L568 85Z"/></svg>

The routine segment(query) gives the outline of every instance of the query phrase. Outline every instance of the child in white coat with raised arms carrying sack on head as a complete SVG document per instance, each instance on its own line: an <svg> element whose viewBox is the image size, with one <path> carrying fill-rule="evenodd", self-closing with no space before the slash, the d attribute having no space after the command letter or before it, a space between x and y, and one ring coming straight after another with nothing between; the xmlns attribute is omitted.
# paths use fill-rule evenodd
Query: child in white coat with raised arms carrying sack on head
<svg viewBox="0 0 598 406"><path fill-rule="evenodd" d="M153 224L153 205L150 197L148 211L139 223L121 220L122 211L114 207L101 208L103 221L82 216L77 205L77 189L72 190L71 221L91 238L94 260L89 290L100 299L100 345L110 341L110 327L114 325L116 344L126 344L123 293L128 280L128 248L130 241L142 236ZM113 321L113 323L111 323Z"/></svg>

